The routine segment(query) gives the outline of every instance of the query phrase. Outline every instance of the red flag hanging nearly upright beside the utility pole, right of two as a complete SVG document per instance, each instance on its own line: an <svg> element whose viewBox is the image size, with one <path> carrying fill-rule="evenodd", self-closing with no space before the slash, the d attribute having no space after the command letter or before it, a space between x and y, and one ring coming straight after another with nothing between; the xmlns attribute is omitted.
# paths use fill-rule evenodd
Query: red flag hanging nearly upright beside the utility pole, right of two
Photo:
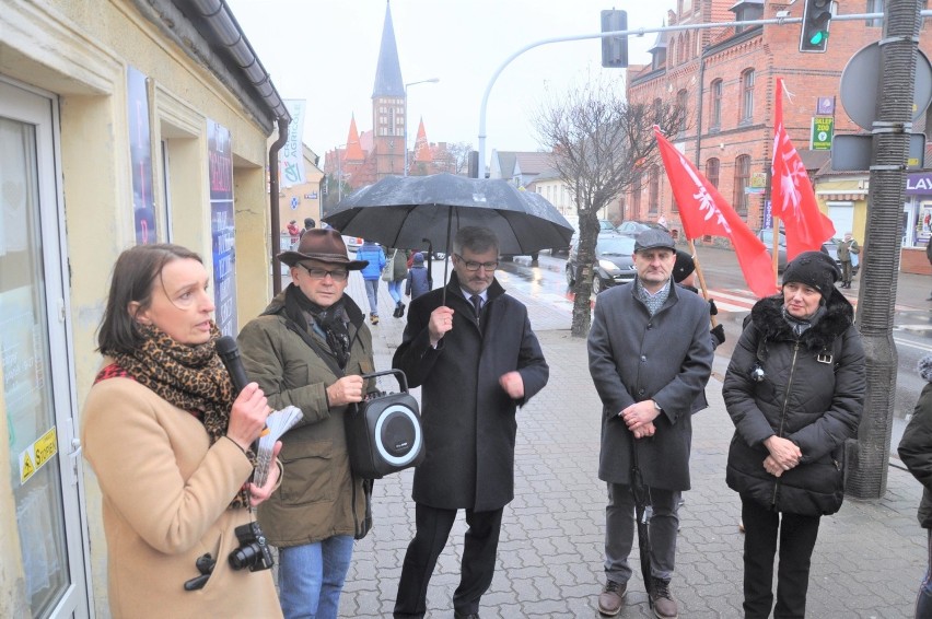
<svg viewBox="0 0 932 619"><path fill-rule="evenodd" d="M818 210L806 168L783 126L783 78L777 78L771 173L770 200L773 214L783 220L787 259L803 252L819 252L835 235L835 225Z"/></svg>

